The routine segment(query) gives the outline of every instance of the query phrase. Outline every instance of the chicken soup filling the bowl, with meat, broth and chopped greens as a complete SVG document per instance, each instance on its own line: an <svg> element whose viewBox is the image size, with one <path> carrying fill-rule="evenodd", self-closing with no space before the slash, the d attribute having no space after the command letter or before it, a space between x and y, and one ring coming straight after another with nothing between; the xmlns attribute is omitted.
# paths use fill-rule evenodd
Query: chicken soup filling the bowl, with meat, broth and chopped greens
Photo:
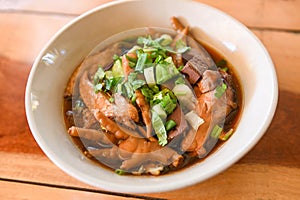
<svg viewBox="0 0 300 200"><path fill-rule="evenodd" d="M66 87L68 133L86 157L118 174L179 170L236 128L242 91L233 67L176 18L172 25L174 32L132 30L101 43Z"/></svg>

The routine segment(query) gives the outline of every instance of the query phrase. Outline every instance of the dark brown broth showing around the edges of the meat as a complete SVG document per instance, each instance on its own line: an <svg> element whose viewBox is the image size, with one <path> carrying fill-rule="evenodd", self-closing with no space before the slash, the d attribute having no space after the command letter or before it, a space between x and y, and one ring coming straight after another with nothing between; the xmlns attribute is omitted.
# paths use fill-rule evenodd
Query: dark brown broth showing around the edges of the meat
<svg viewBox="0 0 300 200"><path fill-rule="evenodd" d="M237 76L232 64L226 58L224 58L224 56L222 54L220 54L217 50L213 49L212 47L210 47L208 45L205 45L203 43L201 43L201 44L202 44L202 46L204 46L206 51L211 55L211 57L215 61L215 63L219 62L220 60L226 60L226 62L227 62L226 67L228 67L228 74L230 74L232 76L233 87L234 87L235 91L237 91L237 93L236 93L237 101L236 102L238 104L238 112L235 114L234 119L231 121L231 128L233 128L235 130L236 126L238 125L238 122L240 120L240 115L241 115L242 108L243 108L243 91L242 91L242 87L240 84L240 79ZM72 125L74 125L74 121L73 121L72 117L70 118L66 115L66 113L71 110L72 110L72 97L64 97L63 112L64 112L64 119L65 119L65 124L66 124L67 129L70 128ZM80 149L80 151L82 151L82 153L86 156L87 155L86 152L88 150L84 146L81 139L72 137L72 140L75 143L75 145ZM184 162L176 168L175 167L165 167L165 170L161 172L161 175L175 173L175 172L181 171L182 169L186 169L186 168L194 165L195 163L204 161L207 157L209 157L216 150L218 150L224 143L226 143L226 141L218 140L218 142L213 147L213 149L204 158L201 158L201 159L199 159L198 157L192 157L187 153L182 154L184 156ZM114 170L114 169L106 166L105 164L101 163L96 158L93 158L93 157L88 157L88 158L90 160L92 160L95 164L97 164L101 167L107 168L109 170Z"/></svg>

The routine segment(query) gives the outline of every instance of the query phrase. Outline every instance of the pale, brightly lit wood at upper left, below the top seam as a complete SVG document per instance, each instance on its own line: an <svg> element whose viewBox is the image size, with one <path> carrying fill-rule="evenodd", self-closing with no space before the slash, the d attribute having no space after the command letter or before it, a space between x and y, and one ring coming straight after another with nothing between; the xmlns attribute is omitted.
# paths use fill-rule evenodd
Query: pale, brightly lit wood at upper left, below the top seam
<svg viewBox="0 0 300 200"><path fill-rule="evenodd" d="M33 63L34 58L50 38L73 18L71 16L38 15L37 17L35 14L0 13L0 55Z"/></svg>

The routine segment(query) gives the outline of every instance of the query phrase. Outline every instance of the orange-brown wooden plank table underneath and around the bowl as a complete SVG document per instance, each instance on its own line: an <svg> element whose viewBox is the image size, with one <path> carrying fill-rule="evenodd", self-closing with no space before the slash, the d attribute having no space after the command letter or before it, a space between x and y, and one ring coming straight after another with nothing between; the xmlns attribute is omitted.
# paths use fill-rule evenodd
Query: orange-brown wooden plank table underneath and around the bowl
<svg viewBox="0 0 300 200"><path fill-rule="evenodd" d="M59 28L108 1L0 0L0 199L300 199L300 0L199 0L248 26L278 74L279 102L269 129L225 172L176 191L118 194L73 179L45 156L24 110L31 65Z"/></svg>

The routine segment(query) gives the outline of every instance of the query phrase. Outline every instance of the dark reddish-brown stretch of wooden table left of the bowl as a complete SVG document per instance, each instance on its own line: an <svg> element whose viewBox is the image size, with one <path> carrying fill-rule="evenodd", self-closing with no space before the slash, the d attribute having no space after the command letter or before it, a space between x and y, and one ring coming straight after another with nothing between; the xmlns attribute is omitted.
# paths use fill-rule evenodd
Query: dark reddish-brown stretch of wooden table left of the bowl
<svg viewBox="0 0 300 200"><path fill-rule="evenodd" d="M42 154L25 116L24 95L30 69L28 64L0 56L0 151Z"/></svg>

